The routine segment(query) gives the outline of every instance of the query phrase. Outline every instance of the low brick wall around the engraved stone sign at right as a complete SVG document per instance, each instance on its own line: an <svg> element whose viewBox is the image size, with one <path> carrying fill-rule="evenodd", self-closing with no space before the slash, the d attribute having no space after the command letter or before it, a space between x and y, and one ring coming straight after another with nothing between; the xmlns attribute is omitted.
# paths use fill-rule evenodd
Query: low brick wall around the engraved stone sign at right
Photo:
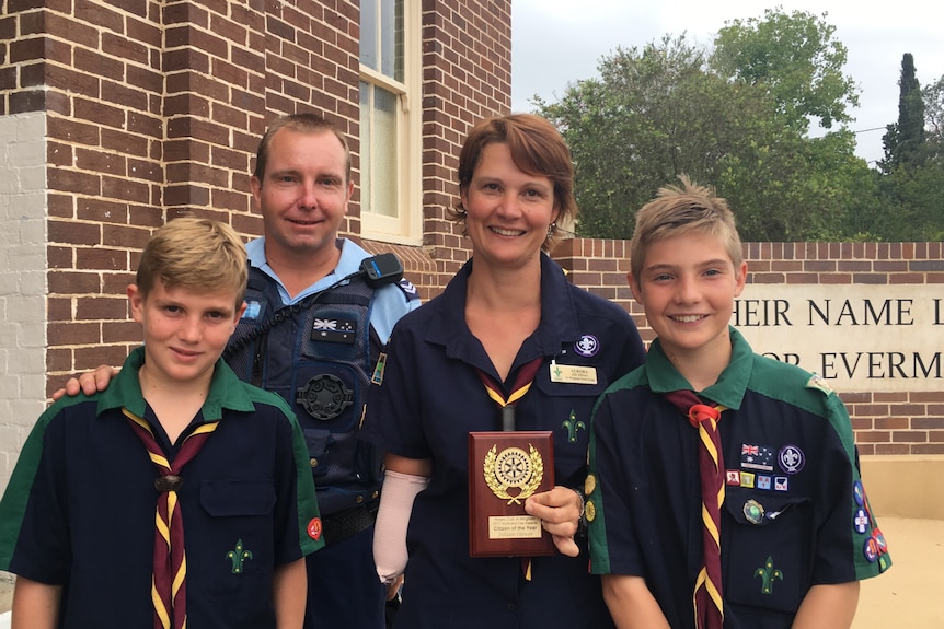
<svg viewBox="0 0 944 629"><path fill-rule="evenodd" d="M909 284L917 293L944 296L944 243L745 243L744 254L748 284ZM561 243L554 258L575 284L625 307L652 340L626 284L629 242L575 238ZM940 336L926 342L944 349ZM861 454L944 454L944 388L940 380L928 383L921 392L839 392Z"/></svg>

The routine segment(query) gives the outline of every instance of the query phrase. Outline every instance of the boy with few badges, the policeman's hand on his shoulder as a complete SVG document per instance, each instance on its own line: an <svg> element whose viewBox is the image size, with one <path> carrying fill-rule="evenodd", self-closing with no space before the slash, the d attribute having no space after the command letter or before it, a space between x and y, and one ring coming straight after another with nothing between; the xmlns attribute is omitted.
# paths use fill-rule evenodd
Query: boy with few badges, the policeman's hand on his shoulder
<svg viewBox="0 0 944 629"><path fill-rule="evenodd" d="M128 287L145 346L37 421L0 502L13 626L300 628L323 545L304 441L220 356L246 254L216 221L160 228Z"/></svg>

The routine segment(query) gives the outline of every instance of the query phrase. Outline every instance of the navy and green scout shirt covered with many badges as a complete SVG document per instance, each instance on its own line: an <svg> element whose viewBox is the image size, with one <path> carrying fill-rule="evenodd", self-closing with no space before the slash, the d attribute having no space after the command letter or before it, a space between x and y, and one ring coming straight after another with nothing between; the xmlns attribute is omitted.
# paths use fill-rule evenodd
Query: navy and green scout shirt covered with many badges
<svg viewBox="0 0 944 629"><path fill-rule="evenodd" d="M818 376L751 351L733 354L700 395L727 407L718 428L725 627L788 628L817 584L891 564L862 487L842 400ZM587 510L592 570L644 576L675 628L694 627L702 564L698 430L661 394L691 385L653 342L645 366L594 415Z"/></svg>

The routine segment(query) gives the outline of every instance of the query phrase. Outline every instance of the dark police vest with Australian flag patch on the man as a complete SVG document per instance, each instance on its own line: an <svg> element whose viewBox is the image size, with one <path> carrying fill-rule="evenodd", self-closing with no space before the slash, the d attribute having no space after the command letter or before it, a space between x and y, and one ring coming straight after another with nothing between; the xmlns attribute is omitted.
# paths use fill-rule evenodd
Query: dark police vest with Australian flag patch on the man
<svg viewBox="0 0 944 629"><path fill-rule="evenodd" d="M381 349L364 278L284 306L275 280L250 267L245 302L223 357L237 375L277 393L304 433L322 515L377 497L381 457L357 439Z"/></svg>

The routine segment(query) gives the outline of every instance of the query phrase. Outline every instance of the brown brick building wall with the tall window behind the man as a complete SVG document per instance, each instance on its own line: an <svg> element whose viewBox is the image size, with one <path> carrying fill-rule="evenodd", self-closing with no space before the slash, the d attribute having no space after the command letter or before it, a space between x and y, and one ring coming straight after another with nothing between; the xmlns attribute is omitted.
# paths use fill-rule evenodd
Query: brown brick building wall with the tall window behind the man
<svg viewBox="0 0 944 629"><path fill-rule="evenodd" d="M428 298L468 257L444 221L468 128L510 104L510 2L423 2L427 247L395 251ZM185 212L261 233L250 167L273 117L314 109L359 167L356 1L7 0L0 116L45 113L46 393L137 343L125 287L157 225ZM344 233L360 233L355 195Z"/></svg>

